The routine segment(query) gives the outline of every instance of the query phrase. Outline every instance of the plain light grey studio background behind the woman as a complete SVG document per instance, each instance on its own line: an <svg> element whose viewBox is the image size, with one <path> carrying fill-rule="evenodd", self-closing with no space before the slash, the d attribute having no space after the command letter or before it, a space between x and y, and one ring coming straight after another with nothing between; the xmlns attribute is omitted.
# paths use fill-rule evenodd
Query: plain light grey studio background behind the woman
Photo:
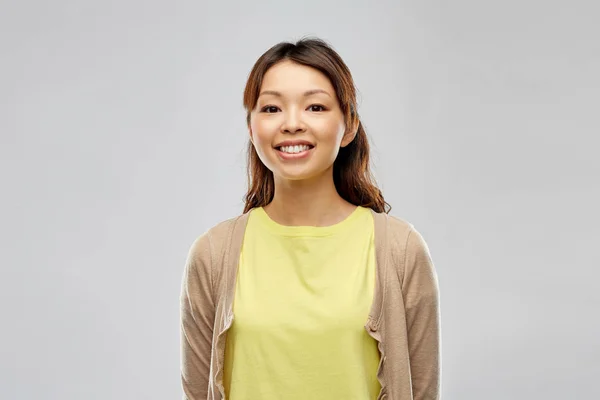
<svg viewBox="0 0 600 400"><path fill-rule="evenodd" d="M0 398L181 396L183 264L242 210L247 74L305 35L429 244L443 398L600 398L599 9L3 1Z"/></svg>

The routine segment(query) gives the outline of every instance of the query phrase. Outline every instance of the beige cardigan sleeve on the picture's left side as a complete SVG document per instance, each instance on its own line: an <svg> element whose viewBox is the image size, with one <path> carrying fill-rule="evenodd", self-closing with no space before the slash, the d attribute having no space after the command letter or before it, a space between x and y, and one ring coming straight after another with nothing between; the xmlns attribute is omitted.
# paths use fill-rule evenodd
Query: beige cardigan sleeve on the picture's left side
<svg viewBox="0 0 600 400"><path fill-rule="evenodd" d="M206 400L210 377L215 303L207 233L192 244L180 293L181 383L184 400Z"/></svg>

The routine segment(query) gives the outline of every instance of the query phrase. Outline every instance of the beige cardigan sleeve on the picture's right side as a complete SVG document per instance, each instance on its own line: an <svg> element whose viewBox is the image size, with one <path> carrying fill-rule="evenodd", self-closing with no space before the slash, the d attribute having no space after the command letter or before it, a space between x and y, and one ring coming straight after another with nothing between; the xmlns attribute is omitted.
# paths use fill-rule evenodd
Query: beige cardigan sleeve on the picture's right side
<svg viewBox="0 0 600 400"><path fill-rule="evenodd" d="M441 391L439 285L423 236L408 234L402 282L414 400L438 400Z"/></svg>

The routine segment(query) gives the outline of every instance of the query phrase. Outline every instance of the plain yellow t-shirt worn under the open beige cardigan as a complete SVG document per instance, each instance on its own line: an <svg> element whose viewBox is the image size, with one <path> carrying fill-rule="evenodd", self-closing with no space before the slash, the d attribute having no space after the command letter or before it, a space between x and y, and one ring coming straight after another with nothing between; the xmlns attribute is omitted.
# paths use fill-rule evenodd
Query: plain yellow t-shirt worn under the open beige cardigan
<svg viewBox="0 0 600 400"><path fill-rule="evenodd" d="M227 333L229 400L374 400L374 225L357 207L331 226L285 226L250 211Z"/></svg>

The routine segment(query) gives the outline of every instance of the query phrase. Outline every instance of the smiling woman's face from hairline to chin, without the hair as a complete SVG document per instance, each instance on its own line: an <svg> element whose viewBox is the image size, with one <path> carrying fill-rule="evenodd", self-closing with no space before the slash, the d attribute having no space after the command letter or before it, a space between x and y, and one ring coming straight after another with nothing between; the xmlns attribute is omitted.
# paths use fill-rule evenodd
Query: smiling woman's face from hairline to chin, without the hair
<svg viewBox="0 0 600 400"><path fill-rule="evenodd" d="M333 167L340 147L354 138L353 134L344 135L345 131L334 88L323 73L289 60L265 73L251 112L250 138L275 177L301 180L325 173ZM313 147L290 155L276 148L287 140L303 140Z"/></svg>

